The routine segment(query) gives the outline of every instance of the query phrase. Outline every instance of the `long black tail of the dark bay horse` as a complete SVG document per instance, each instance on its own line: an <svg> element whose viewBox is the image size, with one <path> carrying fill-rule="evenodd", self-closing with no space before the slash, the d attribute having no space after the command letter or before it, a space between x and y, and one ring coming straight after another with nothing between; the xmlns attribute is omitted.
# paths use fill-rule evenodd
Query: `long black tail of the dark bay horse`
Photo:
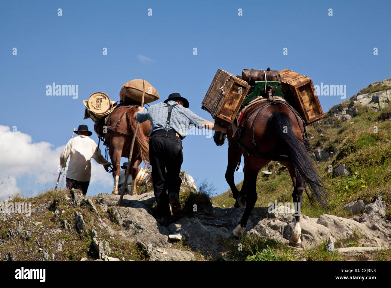
<svg viewBox="0 0 391 288"><path fill-rule="evenodd" d="M274 128L277 138L281 139L285 144L287 155L291 159L293 167L303 178L305 185L308 186L312 195L314 195L322 207L327 209L328 204L325 187L304 148L303 142L305 142L305 140L298 138L293 133L289 116L282 112L274 112L269 119L269 124L269 127Z"/></svg>

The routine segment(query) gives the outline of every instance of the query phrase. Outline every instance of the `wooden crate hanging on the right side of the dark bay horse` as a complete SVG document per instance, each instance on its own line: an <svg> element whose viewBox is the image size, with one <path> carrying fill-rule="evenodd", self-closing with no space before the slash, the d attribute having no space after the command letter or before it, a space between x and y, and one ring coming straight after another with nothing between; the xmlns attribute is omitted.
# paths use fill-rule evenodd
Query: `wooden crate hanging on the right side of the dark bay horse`
<svg viewBox="0 0 391 288"><path fill-rule="evenodd" d="M289 69L280 71L285 99L296 106L307 125L323 118L323 110L311 78ZM290 95L289 95L290 94Z"/></svg>

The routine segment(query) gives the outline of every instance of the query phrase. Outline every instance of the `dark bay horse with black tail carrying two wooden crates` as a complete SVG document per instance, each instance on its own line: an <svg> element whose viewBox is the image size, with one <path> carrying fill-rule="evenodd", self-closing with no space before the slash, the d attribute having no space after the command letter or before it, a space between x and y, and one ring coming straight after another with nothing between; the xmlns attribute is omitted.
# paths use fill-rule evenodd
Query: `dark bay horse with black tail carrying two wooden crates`
<svg viewBox="0 0 391 288"><path fill-rule="evenodd" d="M283 101L265 99L244 112L238 125L238 132L239 136L236 137L233 135L232 127L227 128L229 146L225 178L230 185L233 198L240 206L245 207L242 219L233 230L233 234L240 237L246 230L248 218L258 198L256 178L259 170L270 161L276 160L288 168L292 178L295 217L289 240L292 246L300 246L300 206L305 185L323 207L327 206L325 190L304 147L307 142L303 139L304 127L300 116ZM224 143L222 136L224 135L221 135L221 132L215 132L213 139L217 145ZM242 154L244 180L239 192L233 174Z"/></svg>

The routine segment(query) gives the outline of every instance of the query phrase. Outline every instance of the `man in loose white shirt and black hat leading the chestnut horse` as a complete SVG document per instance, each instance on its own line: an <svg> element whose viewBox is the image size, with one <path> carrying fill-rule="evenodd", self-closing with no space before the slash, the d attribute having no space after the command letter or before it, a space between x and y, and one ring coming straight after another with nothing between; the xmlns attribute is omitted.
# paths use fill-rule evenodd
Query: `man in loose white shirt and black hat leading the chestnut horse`
<svg viewBox="0 0 391 288"><path fill-rule="evenodd" d="M87 125L80 125L75 133L78 136L70 139L66 144L60 155L60 164L62 168L65 168L66 161L69 155L71 156L66 171L66 188L80 189L86 195L91 179L91 158L102 164L105 170L111 163L104 159L97 143L88 137L92 135L92 132L88 131Z"/></svg>

